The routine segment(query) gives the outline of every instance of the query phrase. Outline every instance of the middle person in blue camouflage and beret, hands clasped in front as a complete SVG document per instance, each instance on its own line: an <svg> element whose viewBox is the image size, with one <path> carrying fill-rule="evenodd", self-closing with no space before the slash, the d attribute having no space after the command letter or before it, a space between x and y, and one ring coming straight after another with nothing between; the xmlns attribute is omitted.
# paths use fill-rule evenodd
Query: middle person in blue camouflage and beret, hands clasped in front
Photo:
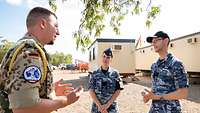
<svg viewBox="0 0 200 113"><path fill-rule="evenodd" d="M90 77L89 94L93 99L91 113L118 113L115 100L123 89L123 83L118 71L110 67L112 57L112 50L106 49L101 67Z"/></svg>

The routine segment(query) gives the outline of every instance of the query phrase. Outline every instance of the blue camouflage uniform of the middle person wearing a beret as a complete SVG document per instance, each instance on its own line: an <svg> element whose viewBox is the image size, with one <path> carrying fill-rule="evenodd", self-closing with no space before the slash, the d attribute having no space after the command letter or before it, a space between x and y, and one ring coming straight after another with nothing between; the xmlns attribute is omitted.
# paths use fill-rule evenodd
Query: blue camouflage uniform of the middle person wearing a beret
<svg viewBox="0 0 200 113"><path fill-rule="evenodd" d="M120 89L117 88L119 84ZM89 89L93 89L97 99L101 104L106 104L115 93L116 90L123 89L122 79L120 78L119 73L110 68L105 74L102 72L101 68L94 71L89 80ZM108 108L108 113L118 113L117 103L113 102L112 105ZM97 105L93 102L91 113L100 113L97 108Z"/></svg>

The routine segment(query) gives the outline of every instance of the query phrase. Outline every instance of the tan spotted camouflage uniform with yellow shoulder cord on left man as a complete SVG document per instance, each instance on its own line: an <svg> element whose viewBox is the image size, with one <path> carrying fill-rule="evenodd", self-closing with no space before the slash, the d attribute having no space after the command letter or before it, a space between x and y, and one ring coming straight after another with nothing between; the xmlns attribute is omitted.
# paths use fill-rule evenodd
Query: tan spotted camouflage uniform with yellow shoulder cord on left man
<svg viewBox="0 0 200 113"><path fill-rule="evenodd" d="M25 44L25 46L17 54L10 73L7 73L14 52L22 44ZM35 44L41 48L44 56L48 59L43 45L35 37L28 34L4 56L0 68L0 88L1 92L5 93L5 97L0 100L1 107L4 107L4 110L1 109L1 113L12 113L12 108L33 106L40 102L40 98L49 98L52 91L52 71L48 65L48 60L42 60ZM44 67L43 62L46 62L47 67ZM42 77L44 77L42 75L44 69L46 69L46 77L41 82Z"/></svg>

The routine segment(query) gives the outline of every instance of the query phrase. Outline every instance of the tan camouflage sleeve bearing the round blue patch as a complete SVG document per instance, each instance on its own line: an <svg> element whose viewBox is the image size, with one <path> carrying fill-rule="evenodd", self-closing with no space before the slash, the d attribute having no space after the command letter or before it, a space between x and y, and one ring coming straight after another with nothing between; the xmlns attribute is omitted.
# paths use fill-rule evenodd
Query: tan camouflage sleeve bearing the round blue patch
<svg viewBox="0 0 200 113"><path fill-rule="evenodd" d="M21 54L12 69L13 79L8 95L10 108L31 107L40 102L39 87L43 70L41 58Z"/></svg>

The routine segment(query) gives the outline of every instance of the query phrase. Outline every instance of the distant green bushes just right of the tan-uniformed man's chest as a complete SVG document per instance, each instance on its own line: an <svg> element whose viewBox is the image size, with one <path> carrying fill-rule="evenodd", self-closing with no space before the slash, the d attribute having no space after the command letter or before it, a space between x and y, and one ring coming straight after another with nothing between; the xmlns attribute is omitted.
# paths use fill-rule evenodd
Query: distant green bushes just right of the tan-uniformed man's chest
<svg viewBox="0 0 200 113"><path fill-rule="evenodd" d="M50 63L52 65L58 66L61 63L72 64L72 55L71 54L65 55L62 52L61 53L56 52L54 54L50 54L50 56L51 56Z"/></svg>

